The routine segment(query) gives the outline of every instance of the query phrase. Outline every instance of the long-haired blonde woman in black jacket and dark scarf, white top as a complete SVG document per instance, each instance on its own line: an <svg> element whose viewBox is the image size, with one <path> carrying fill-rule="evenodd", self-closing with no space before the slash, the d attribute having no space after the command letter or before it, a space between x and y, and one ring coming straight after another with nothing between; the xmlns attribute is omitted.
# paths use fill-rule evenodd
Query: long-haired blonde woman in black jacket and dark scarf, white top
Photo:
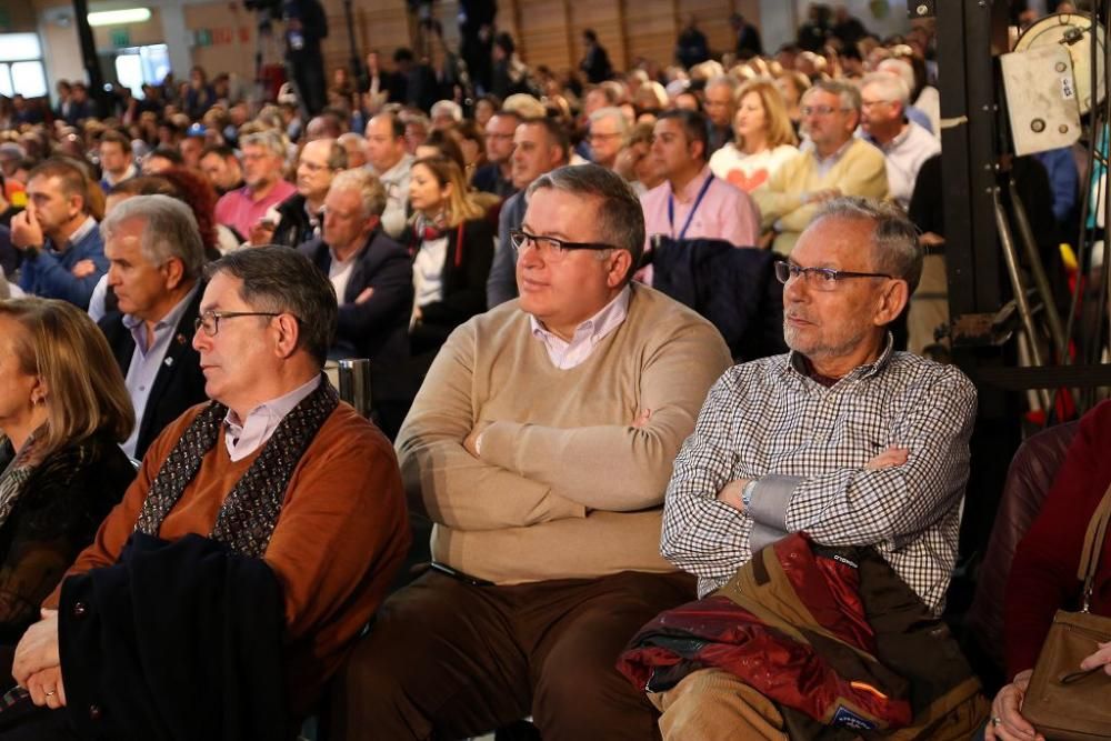
<svg viewBox="0 0 1111 741"><path fill-rule="evenodd" d="M413 256L410 346L414 357L434 356L453 329L486 311L494 229L447 157L413 162L409 202L414 213L402 244Z"/></svg>

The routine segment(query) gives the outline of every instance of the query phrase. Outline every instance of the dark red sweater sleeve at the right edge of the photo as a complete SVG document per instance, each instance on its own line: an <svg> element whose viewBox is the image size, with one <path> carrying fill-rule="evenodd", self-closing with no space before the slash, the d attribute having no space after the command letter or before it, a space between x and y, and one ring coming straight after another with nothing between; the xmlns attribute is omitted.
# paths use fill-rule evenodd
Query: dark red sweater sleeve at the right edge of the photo
<svg viewBox="0 0 1111 741"><path fill-rule="evenodd" d="M1008 677L1030 669L1058 609L1080 594L1077 569L1088 523L1111 483L1111 402L1080 421L1053 488L1014 551L1004 609Z"/></svg>

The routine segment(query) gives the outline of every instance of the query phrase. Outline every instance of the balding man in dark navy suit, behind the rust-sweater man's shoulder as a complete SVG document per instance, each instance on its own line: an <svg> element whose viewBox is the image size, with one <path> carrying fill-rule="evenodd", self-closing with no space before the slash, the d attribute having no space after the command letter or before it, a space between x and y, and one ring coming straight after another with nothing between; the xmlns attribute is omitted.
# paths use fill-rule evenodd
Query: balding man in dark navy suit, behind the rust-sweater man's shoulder
<svg viewBox="0 0 1111 741"><path fill-rule="evenodd" d="M374 411L392 439L408 409L403 393L408 384L398 373L409 358L412 261L382 230L386 189L369 171L336 176L324 206L323 238L298 249L336 289L340 313L329 354L370 360Z"/></svg>

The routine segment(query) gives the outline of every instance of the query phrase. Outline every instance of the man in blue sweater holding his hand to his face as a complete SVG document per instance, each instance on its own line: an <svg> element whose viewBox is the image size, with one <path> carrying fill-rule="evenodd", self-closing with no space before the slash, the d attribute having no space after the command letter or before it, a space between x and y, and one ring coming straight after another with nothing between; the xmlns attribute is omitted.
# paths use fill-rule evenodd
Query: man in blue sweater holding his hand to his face
<svg viewBox="0 0 1111 741"><path fill-rule="evenodd" d="M84 172L63 159L31 171L27 210L11 220L11 243L23 253L19 287L27 293L89 308L108 260L88 192Z"/></svg>

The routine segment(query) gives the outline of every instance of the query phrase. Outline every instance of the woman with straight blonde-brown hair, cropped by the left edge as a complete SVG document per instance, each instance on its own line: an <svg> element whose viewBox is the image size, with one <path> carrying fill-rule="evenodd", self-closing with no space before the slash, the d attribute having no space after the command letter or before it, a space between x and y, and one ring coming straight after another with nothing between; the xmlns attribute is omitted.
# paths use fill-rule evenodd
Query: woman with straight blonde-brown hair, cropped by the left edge
<svg viewBox="0 0 1111 741"><path fill-rule="evenodd" d="M64 301L0 301L0 661L123 498L131 399L103 336Z"/></svg>

